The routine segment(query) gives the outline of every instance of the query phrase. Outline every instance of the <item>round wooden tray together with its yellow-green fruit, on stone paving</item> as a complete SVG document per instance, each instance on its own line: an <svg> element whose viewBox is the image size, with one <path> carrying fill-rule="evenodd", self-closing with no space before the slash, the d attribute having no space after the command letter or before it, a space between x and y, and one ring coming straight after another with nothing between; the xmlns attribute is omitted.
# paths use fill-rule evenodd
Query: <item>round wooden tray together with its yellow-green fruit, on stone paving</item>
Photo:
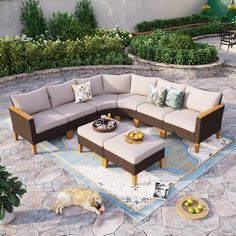
<svg viewBox="0 0 236 236"><path fill-rule="evenodd" d="M176 202L177 213L191 220L199 220L206 217L209 213L208 204L194 196L184 196L178 199Z"/></svg>

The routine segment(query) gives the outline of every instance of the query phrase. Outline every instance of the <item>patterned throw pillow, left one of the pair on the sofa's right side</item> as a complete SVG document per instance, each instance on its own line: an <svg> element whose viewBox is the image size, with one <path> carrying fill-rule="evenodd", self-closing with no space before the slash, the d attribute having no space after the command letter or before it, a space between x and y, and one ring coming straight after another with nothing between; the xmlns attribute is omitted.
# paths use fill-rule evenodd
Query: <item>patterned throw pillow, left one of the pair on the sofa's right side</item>
<svg viewBox="0 0 236 236"><path fill-rule="evenodd" d="M161 107L164 104L166 94L166 88L158 88L151 85L146 102Z"/></svg>

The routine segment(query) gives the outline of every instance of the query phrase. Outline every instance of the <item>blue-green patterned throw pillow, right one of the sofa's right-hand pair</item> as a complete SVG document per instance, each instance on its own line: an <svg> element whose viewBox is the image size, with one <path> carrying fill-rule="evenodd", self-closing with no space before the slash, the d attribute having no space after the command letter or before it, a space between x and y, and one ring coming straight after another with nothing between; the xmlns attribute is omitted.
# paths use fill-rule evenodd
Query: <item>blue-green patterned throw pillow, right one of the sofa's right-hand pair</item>
<svg viewBox="0 0 236 236"><path fill-rule="evenodd" d="M167 88L167 95L165 105L174 109L180 109L183 104L184 92L178 91L174 88Z"/></svg>

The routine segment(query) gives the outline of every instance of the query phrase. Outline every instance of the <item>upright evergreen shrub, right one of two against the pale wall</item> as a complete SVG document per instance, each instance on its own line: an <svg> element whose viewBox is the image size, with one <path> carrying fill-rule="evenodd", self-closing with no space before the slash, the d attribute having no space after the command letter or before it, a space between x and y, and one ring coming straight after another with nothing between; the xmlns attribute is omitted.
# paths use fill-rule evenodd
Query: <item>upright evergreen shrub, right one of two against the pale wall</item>
<svg viewBox="0 0 236 236"><path fill-rule="evenodd" d="M90 0L79 0L76 2L75 17L82 25L87 25L93 29L97 27Z"/></svg>

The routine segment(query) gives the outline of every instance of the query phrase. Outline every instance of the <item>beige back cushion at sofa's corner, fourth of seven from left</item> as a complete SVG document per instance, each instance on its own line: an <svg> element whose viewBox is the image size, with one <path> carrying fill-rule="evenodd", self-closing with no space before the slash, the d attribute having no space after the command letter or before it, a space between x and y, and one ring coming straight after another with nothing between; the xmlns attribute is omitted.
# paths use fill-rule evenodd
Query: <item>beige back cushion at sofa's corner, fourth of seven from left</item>
<svg viewBox="0 0 236 236"><path fill-rule="evenodd" d="M104 93L129 93L131 74L102 75Z"/></svg>

